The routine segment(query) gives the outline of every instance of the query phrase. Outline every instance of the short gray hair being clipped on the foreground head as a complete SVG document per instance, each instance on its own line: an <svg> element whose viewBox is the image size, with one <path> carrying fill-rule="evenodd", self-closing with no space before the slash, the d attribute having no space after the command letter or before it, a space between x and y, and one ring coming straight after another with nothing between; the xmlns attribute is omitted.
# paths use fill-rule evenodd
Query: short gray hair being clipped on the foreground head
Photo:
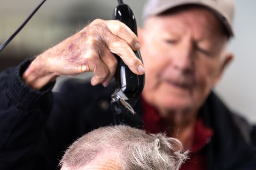
<svg viewBox="0 0 256 170"><path fill-rule="evenodd" d="M175 138L118 125L101 127L76 140L66 150L60 166L78 169L109 151L118 153L122 170L178 170L187 159L187 152Z"/></svg>

